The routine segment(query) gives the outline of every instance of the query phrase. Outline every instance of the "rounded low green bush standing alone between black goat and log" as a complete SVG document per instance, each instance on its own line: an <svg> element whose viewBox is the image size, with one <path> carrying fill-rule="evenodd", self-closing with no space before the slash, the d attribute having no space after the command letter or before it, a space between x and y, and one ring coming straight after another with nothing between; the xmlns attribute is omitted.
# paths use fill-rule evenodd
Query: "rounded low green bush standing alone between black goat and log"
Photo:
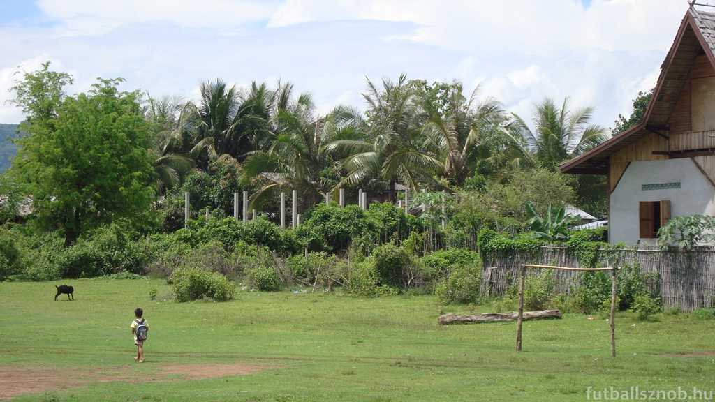
<svg viewBox="0 0 715 402"><path fill-rule="evenodd" d="M212 298L225 301L233 298L234 284L224 275L195 267L177 268L172 275L174 300L179 303Z"/></svg>

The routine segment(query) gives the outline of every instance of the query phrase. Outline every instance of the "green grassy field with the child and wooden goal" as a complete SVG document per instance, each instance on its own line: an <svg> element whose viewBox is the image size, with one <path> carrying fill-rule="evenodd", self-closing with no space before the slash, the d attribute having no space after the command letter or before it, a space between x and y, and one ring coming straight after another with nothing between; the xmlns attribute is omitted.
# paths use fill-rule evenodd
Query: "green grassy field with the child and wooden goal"
<svg viewBox="0 0 715 402"><path fill-rule="evenodd" d="M160 280L68 283L75 301L54 301L60 283L0 283L0 378L47 369L87 374L77 388L13 401L586 401L593 399L588 387L715 390L715 321L688 315L649 322L617 315L618 356L611 358L600 315L525 322L516 353L516 323L439 326L431 296L242 292L229 303L177 304L149 300L151 287L169 298ZM132 360L137 307L151 328L143 364ZM686 355L663 356L679 353ZM271 368L137 383L194 363Z"/></svg>

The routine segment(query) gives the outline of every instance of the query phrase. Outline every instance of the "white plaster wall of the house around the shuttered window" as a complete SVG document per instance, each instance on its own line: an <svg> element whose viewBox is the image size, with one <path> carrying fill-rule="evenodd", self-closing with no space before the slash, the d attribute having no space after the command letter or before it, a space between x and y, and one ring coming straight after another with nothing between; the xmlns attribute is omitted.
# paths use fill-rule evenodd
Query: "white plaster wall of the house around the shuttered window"
<svg viewBox="0 0 715 402"><path fill-rule="evenodd" d="M673 182L680 182L681 187L642 189L642 185ZM660 200L670 200L671 217L715 215L715 189L690 158L631 162L611 192L608 241L635 245L640 235L638 202Z"/></svg>

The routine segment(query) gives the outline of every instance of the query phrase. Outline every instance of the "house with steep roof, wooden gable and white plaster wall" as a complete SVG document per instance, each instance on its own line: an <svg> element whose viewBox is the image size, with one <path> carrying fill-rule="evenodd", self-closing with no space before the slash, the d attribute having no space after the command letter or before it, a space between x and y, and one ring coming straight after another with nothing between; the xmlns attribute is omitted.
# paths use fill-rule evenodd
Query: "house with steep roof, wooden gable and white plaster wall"
<svg viewBox="0 0 715 402"><path fill-rule="evenodd" d="M641 120L559 170L606 176L611 244L653 244L671 217L715 215L715 13L691 4Z"/></svg>

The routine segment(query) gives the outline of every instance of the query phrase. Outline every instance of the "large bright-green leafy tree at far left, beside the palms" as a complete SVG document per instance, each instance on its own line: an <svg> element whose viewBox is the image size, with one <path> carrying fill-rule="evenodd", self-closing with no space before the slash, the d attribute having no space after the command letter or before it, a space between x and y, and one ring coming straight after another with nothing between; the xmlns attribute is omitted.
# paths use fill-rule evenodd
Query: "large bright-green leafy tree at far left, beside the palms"
<svg viewBox="0 0 715 402"><path fill-rule="evenodd" d="M100 79L86 94L54 105L51 113L35 112L31 106L42 104L36 99L54 96L67 82L58 73L50 78L53 85L32 87L27 77L50 75L46 67L26 74L16 87L32 89L15 99L32 118L11 172L31 185L37 222L64 232L65 247L83 232L111 222L143 225L154 190L141 95L119 92L122 79Z"/></svg>

